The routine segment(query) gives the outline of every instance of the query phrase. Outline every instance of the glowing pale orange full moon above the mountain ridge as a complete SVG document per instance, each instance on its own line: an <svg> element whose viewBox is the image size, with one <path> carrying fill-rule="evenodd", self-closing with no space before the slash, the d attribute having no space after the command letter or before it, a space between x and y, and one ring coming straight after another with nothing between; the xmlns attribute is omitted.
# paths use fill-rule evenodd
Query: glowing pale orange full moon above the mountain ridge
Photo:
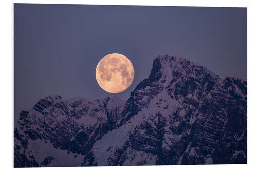
<svg viewBox="0 0 257 171"><path fill-rule="evenodd" d="M133 82L134 74L131 61L119 53L104 56L96 67L97 83L109 93L125 91Z"/></svg>

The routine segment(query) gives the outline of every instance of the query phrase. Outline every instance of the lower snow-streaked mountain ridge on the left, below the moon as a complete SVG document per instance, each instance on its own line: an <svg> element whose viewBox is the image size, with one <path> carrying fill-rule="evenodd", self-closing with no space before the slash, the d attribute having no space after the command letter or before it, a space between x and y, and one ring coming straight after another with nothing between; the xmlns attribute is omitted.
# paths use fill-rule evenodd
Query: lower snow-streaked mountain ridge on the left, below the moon
<svg viewBox="0 0 257 171"><path fill-rule="evenodd" d="M14 166L80 166L93 144L112 130L124 104L118 98L41 99L21 112L14 128Z"/></svg>

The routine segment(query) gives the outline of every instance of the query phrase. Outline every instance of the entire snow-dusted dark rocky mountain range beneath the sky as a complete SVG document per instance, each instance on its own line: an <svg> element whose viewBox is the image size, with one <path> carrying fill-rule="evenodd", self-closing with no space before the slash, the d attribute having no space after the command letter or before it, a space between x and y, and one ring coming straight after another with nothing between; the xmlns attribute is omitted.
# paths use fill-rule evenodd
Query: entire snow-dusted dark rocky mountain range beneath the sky
<svg viewBox="0 0 257 171"><path fill-rule="evenodd" d="M14 128L14 166L247 163L247 82L158 56L130 98L41 99Z"/></svg>

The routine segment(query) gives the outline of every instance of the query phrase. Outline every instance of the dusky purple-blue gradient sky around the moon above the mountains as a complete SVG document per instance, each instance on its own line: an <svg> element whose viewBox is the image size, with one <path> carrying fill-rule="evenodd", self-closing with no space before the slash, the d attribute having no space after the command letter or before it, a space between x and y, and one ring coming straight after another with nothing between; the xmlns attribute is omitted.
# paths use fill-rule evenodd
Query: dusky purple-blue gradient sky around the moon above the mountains
<svg viewBox="0 0 257 171"><path fill-rule="evenodd" d="M135 68L119 94L95 78L109 53ZM14 4L14 122L49 94L127 100L164 54L247 80L247 8Z"/></svg>

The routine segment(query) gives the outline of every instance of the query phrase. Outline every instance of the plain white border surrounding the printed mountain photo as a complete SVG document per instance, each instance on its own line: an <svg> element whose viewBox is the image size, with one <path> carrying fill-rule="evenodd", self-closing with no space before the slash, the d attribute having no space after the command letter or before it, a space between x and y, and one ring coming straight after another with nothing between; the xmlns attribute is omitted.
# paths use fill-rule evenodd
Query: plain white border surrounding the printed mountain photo
<svg viewBox="0 0 257 171"><path fill-rule="evenodd" d="M257 20L256 20L256 2L255 1L162 1L162 0L145 0L145 1L1 1L0 12L0 29L1 29L1 56L0 56L0 73L1 73L1 168L3 170L13 168L13 3L44 3L44 4L102 4L102 5L155 5L155 6L201 6L201 7L247 7L248 8L248 164L244 165L189 165L189 166L122 166L122 167L55 167L55 168L38 168L43 170L131 170L131 169L148 169L148 170L242 170L253 169L256 166L256 122L257 112L255 97L257 97L256 86L256 40L257 40ZM18 169L18 168L17 168ZM19 168L24 170L26 168ZM35 168L31 168L34 170Z"/></svg>

